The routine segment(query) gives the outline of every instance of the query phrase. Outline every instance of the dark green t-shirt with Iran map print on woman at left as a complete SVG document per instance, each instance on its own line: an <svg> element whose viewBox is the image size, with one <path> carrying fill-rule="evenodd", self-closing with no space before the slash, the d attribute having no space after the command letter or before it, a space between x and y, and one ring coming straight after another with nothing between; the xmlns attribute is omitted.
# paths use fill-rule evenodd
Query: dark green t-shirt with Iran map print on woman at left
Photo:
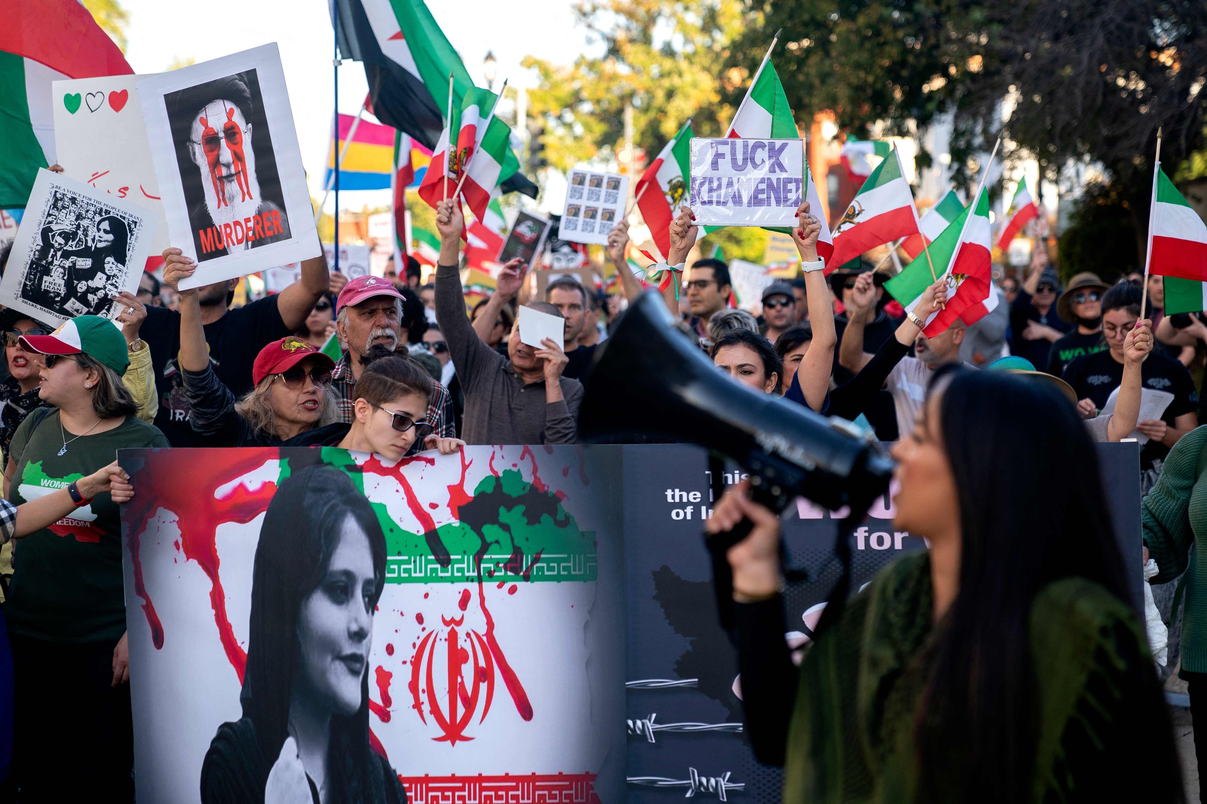
<svg viewBox="0 0 1207 804"><path fill-rule="evenodd" d="M158 429L127 416L111 430L71 441L60 456L59 411L35 428L36 418L27 416L12 436L17 474L8 499L17 505L91 475L112 463L118 450L168 446ZM69 518L16 540L4 608L8 630L52 642L119 639L126 632L123 577L118 506L98 494Z"/></svg>

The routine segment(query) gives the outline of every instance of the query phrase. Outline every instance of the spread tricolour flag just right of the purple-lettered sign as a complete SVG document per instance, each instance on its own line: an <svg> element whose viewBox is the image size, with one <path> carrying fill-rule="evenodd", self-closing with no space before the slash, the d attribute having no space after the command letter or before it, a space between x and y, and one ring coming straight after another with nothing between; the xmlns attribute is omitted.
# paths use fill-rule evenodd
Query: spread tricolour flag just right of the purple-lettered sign
<svg viewBox="0 0 1207 804"><path fill-rule="evenodd" d="M894 148L871 171L838 222L834 254L827 260L826 272L876 246L914 234L919 234L917 210L902 170L900 153Z"/></svg>

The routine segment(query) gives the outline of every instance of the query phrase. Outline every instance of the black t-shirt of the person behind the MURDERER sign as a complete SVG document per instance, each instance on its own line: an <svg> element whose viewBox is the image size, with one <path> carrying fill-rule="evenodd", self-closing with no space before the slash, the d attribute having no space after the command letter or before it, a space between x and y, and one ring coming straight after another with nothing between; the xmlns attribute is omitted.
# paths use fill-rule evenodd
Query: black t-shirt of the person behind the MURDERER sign
<svg viewBox="0 0 1207 804"><path fill-rule="evenodd" d="M235 399L251 391L251 365L260 350L292 330L285 327L276 309L276 295L228 310L212 324L205 324L205 342L218 380ZM151 348L159 412L154 424L174 447L199 447L200 438L188 426L188 397L176 366L180 353L180 313L167 307L147 307L140 338Z"/></svg>

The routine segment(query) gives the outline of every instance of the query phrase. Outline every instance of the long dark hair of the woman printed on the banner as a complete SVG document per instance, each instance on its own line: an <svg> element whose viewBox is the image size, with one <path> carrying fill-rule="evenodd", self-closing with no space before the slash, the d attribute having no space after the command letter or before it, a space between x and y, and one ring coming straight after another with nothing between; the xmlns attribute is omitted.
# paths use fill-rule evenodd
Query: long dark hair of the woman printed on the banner
<svg viewBox="0 0 1207 804"><path fill-rule="evenodd" d="M243 716L272 763L288 736L290 693L298 668L297 623L302 601L319 587L351 517L369 539L377 606L385 583L385 535L365 495L343 471L326 465L295 471L273 495L260 529L251 582L247 673ZM333 802L381 800L381 774L369 765L368 668L361 706L350 717L332 715L330 779ZM267 779L268 768L264 768Z"/></svg>

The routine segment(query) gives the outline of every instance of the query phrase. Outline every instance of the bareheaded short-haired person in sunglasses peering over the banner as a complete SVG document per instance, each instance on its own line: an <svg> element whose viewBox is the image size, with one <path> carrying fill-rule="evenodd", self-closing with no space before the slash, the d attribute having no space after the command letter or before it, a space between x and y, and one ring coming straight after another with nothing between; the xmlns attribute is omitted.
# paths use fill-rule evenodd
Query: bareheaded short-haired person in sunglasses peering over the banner
<svg viewBox="0 0 1207 804"><path fill-rule="evenodd" d="M326 446L373 452L391 463L420 441L424 450L453 454L461 439L441 438L426 421L436 389L432 377L415 360L374 344L365 354L365 370L352 387L352 423L337 422L285 442L285 446Z"/></svg>

